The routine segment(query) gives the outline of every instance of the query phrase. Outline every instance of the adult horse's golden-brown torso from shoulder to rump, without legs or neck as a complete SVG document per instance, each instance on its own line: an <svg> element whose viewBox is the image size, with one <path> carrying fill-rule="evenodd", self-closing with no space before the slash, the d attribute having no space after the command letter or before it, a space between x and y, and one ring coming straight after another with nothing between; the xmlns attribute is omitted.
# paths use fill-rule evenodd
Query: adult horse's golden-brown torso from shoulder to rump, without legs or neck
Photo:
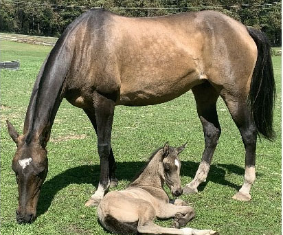
<svg viewBox="0 0 283 235"><path fill-rule="evenodd" d="M130 18L91 10L83 17L71 38L75 53L66 96L73 103L81 98L91 105L98 91L115 93L116 104L157 104L205 80L221 87L247 80L246 70L252 74L253 40L244 25L223 14Z"/></svg>

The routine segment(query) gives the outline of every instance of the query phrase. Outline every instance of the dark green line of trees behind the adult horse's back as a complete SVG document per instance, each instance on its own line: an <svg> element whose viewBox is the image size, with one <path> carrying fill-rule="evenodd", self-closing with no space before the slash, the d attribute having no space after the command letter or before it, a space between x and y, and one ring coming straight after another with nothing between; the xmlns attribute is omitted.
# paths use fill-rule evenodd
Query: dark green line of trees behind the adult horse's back
<svg viewBox="0 0 283 235"><path fill-rule="evenodd" d="M2 0L0 32L60 36L82 12L105 8L125 16L160 16L216 10L256 27L281 45L281 1L270 0Z"/></svg>

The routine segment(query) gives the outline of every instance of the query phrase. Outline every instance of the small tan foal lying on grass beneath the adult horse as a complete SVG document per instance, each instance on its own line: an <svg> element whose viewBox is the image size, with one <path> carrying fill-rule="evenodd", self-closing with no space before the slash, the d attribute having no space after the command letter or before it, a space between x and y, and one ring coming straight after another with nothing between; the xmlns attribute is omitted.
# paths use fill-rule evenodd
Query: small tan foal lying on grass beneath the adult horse
<svg viewBox="0 0 283 235"><path fill-rule="evenodd" d="M180 229L194 216L194 209L181 199L169 201L164 182L176 197L182 194L179 153L185 144L172 148L165 144L150 157L148 164L126 190L105 195L98 205L100 223L117 234L217 234L212 230ZM174 217L174 228L156 225L155 217Z"/></svg>

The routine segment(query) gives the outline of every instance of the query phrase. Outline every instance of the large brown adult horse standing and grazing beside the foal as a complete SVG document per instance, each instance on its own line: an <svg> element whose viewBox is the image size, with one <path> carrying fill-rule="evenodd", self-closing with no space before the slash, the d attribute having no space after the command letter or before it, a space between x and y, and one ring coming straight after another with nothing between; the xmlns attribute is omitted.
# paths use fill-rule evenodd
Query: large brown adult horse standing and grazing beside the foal
<svg viewBox="0 0 283 235"><path fill-rule="evenodd" d="M245 181L234 196L249 200L256 179L256 139L273 138L275 92L270 46L258 30L213 11L129 18L89 10L73 21L43 63L12 161L19 191L16 218L31 222L48 164L46 145L63 98L89 117L98 137L100 181L86 205L97 204L115 179L111 129L115 105L167 102L192 89L203 124L205 150L185 192L207 177L220 136L219 96L238 126L246 150Z"/></svg>

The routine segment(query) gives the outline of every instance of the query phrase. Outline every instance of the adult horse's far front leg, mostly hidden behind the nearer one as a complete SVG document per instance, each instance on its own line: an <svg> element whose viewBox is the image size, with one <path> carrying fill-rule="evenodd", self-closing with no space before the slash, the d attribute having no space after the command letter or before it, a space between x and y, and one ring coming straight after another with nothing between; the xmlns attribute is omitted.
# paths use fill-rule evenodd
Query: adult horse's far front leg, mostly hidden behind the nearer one
<svg viewBox="0 0 283 235"><path fill-rule="evenodd" d="M94 109L84 109L84 113L87 114L89 117L89 120L91 121L91 124L93 125L93 128L95 129L96 135L98 134L98 128L96 126L96 120L95 120L95 111ZM111 147L110 155L109 155L109 175L110 175L110 187L117 186L118 180L115 177L115 170L116 170L116 161L113 155L113 150Z"/></svg>

